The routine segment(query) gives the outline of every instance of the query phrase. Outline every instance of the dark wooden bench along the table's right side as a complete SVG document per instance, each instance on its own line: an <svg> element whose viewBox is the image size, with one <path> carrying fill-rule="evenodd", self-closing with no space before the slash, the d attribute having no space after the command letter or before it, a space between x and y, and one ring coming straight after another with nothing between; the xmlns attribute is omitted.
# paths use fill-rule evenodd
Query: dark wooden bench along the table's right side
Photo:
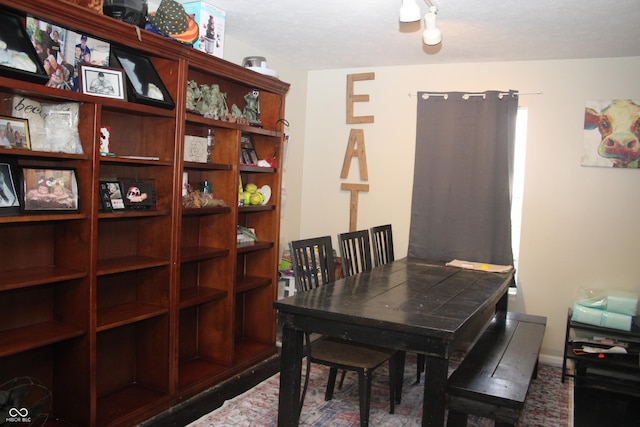
<svg viewBox="0 0 640 427"><path fill-rule="evenodd" d="M447 381L448 427L466 426L467 415L513 426L524 408L547 318L499 312Z"/></svg>

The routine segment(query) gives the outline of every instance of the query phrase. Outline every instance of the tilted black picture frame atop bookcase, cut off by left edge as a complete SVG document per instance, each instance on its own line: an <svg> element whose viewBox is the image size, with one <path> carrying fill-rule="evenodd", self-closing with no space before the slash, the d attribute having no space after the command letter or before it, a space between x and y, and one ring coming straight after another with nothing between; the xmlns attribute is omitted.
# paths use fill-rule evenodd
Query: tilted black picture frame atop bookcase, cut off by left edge
<svg viewBox="0 0 640 427"><path fill-rule="evenodd" d="M7 50L18 52L24 65L28 65L33 70L2 64L0 75L39 84L49 81L44 65L40 62L27 30L22 25L22 19L18 15L0 10L0 41L7 44Z"/></svg>

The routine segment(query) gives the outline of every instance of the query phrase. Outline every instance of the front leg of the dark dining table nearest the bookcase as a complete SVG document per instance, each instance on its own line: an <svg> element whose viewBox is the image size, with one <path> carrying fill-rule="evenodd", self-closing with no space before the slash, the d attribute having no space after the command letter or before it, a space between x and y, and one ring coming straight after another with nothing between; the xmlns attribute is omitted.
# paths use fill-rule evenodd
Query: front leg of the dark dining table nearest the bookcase
<svg viewBox="0 0 640 427"><path fill-rule="evenodd" d="M300 382L302 370L303 333L282 328L280 355L280 394L278 398L278 426L297 426L300 420Z"/></svg>

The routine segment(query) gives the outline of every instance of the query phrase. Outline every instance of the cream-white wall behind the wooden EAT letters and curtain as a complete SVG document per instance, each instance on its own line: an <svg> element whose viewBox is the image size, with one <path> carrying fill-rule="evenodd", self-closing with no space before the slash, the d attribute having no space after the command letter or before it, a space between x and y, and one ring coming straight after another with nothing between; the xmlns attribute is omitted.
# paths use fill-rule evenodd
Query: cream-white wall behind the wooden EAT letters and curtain
<svg viewBox="0 0 640 427"><path fill-rule="evenodd" d="M348 192L340 185L367 183L360 193L358 228L392 223L396 257L407 253L413 182L417 91L515 89L529 110L519 288L510 309L547 316L542 353L560 357L567 308L581 287L640 292L640 171L580 166L585 102L640 98L640 58L372 67L304 72L278 55L225 40L227 52L267 56L292 83L291 122L284 181L282 239L336 235L349 228ZM228 58L229 59L229 58ZM372 124L346 124L346 76L374 72L356 83L368 103L356 115ZM363 129L369 172L362 181L354 161L340 171L351 129Z"/></svg>

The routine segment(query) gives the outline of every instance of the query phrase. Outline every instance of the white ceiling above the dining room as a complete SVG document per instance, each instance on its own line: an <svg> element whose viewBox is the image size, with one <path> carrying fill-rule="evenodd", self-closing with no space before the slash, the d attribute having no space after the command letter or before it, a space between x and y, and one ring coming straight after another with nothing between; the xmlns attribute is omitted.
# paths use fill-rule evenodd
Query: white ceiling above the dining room
<svg viewBox="0 0 640 427"><path fill-rule="evenodd" d="M432 47L424 20L399 23L401 0L208 1L226 12L225 36L308 70L640 56L638 0L434 0Z"/></svg>

